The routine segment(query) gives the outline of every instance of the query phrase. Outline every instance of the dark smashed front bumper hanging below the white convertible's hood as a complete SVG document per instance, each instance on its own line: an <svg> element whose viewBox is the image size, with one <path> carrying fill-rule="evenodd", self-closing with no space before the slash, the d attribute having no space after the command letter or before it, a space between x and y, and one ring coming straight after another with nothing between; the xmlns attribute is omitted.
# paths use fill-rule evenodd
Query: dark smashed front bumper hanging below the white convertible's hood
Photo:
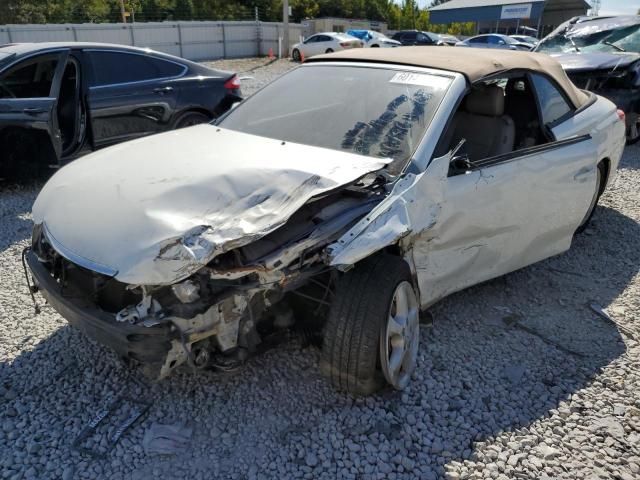
<svg viewBox="0 0 640 480"><path fill-rule="evenodd" d="M147 327L117 322L115 315L98 308L73 286L58 283L35 252L28 251L26 260L42 295L71 325L122 358L148 365L164 363L173 336L168 324Z"/></svg>

